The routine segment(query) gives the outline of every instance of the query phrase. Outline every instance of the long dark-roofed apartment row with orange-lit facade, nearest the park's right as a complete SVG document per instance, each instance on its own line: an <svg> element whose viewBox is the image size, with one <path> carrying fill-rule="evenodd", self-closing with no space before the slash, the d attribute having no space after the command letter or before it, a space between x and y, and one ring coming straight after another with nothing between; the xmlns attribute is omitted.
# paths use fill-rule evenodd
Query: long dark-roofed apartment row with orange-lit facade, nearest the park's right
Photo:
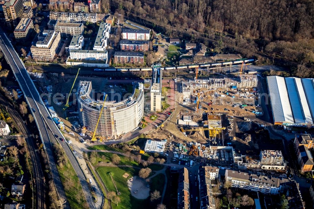
<svg viewBox="0 0 314 209"><path fill-rule="evenodd" d="M190 205L190 183L187 168L179 170L178 182L178 209L189 209Z"/></svg>

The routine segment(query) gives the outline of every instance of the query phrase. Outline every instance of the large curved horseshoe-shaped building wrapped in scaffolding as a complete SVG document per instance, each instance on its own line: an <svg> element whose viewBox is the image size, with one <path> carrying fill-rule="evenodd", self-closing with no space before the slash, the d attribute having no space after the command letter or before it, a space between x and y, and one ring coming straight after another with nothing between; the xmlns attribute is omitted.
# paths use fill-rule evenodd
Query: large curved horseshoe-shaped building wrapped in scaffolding
<svg viewBox="0 0 314 209"><path fill-rule="evenodd" d="M93 98L91 81L80 81L77 92L80 121L94 131L103 101ZM138 127L144 113L143 84L135 85L132 96L120 101L106 101L96 133L104 137L116 137Z"/></svg>

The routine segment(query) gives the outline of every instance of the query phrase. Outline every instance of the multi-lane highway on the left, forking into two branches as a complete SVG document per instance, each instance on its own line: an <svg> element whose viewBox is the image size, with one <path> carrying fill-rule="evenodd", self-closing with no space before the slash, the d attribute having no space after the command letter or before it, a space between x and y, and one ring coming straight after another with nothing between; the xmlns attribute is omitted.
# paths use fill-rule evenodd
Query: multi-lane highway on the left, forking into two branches
<svg viewBox="0 0 314 209"><path fill-rule="evenodd" d="M24 63L20 60L18 54L14 50L14 47L12 46L8 37L5 35L1 28L0 28L0 48L3 51L6 61L10 65L12 71L14 72L14 75L19 83L20 88L24 93L24 97L28 105L32 109L32 114L38 126L38 130L40 132L41 140L45 148L49 168L51 171L54 185L57 190L58 197L59 198L62 197L65 200L67 200L57 170L57 166L53 158L51 142L58 142L64 149L66 155L70 160L70 163L72 164L76 174L78 175L78 178L84 191L84 195L86 197L86 201L89 203L89 208L100 208L100 206L95 205L93 201L91 192L89 190L88 182L86 181L85 175L82 169L80 168L78 161L76 160L75 156L70 150L70 147L68 147L68 145L65 143L65 139L62 136L60 130L58 129L54 121L52 121L37 89L35 88L34 83L32 82L28 72L26 71ZM99 198L103 197L100 196ZM66 207L67 208L70 207L68 202L66 203Z"/></svg>

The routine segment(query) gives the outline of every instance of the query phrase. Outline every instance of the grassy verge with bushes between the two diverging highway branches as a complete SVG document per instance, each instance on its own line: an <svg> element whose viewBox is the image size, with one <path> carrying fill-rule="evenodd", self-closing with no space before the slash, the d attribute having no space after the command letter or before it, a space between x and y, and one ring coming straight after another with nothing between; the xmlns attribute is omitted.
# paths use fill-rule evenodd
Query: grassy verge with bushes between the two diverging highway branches
<svg viewBox="0 0 314 209"><path fill-rule="evenodd" d="M82 190L82 185L78 180L71 163L66 157L67 164L62 168L57 165L57 169L60 175L60 179L67 196L68 202L71 208L85 208L84 207L84 193Z"/></svg>

